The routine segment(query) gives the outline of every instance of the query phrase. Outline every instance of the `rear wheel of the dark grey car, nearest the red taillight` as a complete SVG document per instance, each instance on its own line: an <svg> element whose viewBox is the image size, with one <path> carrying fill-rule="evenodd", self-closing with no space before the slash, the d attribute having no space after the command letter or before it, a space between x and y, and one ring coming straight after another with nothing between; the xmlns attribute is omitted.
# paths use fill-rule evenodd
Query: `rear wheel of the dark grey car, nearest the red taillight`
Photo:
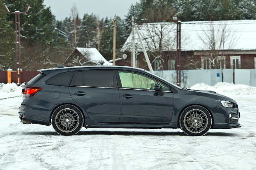
<svg viewBox="0 0 256 170"><path fill-rule="evenodd" d="M52 114L52 126L54 130L64 136L78 133L84 124L81 111L73 105L62 105Z"/></svg>

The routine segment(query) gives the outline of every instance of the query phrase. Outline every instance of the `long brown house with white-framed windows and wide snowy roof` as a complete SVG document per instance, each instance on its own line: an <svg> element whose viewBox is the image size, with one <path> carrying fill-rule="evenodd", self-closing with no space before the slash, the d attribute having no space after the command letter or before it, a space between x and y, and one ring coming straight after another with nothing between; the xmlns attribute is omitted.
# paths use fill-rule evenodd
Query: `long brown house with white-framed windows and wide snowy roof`
<svg viewBox="0 0 256 170"><path fill-rule="evenodd" d="M144 23L138 30L153 69L175 70L176 24ZM132 35L122 47L127 59L116 61L116 65L131 66L131 40ZM147 69L137 34L135 45L137 67ZM161 60L156 58L159 51ZM216 63L218 68L256 68L256 20L181 22L182 69L211 69Z"/></svg>

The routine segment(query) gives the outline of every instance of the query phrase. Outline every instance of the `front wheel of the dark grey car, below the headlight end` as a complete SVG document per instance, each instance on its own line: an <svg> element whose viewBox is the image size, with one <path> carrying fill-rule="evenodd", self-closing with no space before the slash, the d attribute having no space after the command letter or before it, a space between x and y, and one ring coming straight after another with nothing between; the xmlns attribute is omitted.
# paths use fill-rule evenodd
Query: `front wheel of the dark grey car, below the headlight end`
<svg viewBox="0 0 256 170"><path fill-rule="evenodd" d="M211 126L212 116L202 106L189 106L180 114L180 128L189 136L203 136Z"/></svg>

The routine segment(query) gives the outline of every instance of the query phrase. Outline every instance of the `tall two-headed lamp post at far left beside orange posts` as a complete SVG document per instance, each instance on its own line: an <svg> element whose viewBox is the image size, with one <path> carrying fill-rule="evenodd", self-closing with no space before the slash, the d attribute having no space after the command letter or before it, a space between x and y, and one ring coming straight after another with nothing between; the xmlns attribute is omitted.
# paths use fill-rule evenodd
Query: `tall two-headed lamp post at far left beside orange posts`
<svg viewBox="0 0 256 170"><path fill-rule="evenodd" d="M17 85L21 83L21 65L20 65L20 14L25 14L29 11L29 5L26 6L25 12L15 11L10 12L7 6L4 6L8 14L15 14L15 45L16 45L16 73Z"/></svg>

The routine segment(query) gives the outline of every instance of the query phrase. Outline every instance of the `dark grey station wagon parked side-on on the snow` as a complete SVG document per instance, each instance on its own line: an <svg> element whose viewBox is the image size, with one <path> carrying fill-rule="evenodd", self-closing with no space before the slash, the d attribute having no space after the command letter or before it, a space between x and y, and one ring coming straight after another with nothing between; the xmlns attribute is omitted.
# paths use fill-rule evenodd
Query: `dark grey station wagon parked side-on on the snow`
<svg viewBox="0 0 256 170"><path fill-rule="evenodd" d="M38 70L22 86L19 117L74 135L86 128L180 128L201 136L236 128L239 108L214 91L180 88L140 68L80 66Z"/></svg>

